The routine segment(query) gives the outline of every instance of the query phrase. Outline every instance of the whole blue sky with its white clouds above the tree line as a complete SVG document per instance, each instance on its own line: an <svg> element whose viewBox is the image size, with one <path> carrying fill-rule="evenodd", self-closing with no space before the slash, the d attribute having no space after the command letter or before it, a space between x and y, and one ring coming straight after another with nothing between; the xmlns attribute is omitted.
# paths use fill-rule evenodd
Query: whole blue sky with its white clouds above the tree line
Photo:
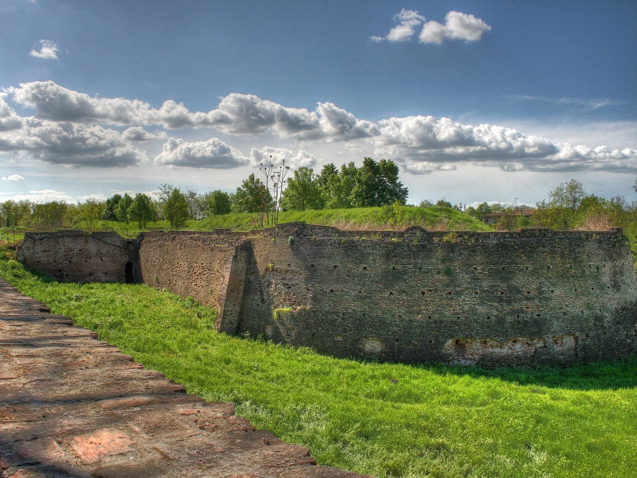
<svg viewBox="0 0 637 478"><path fill-rule="evenodd" d="M270 153L390 158L410 201L634 199L637 2L9 0L0 64L0 199L231 190Z"/></svg>

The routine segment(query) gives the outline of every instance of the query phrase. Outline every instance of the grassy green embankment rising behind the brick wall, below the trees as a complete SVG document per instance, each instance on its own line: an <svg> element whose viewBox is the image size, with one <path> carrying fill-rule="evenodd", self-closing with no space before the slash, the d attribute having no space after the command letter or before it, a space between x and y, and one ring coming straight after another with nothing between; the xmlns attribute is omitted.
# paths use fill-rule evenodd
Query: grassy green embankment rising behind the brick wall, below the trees
<svg viewBox="0 0 637 478"><path fill-rule="evenodd" d="M279 216L279 223L305 221L308 224L321 224L347 229L391 229L404 228L410 225L420 225L427 229L449 230L492 230L491 227L478 221L468 214L464 214L451 207L401 207L396 214L393 207L355 207L352 209L320 209L315 211L288 211ZM168 221L147 223L148 228L169 230ZM259 227L257 213L230 213L211 216L205 219L189 220L183 225L183 230L213 230L226 228L247 231ZM85 228L83 223L78 228ZM140 231L138 223L129 224L115 221L97 221L94 230L115 230L118 234L131 237ZM24 237L24 228L17 228L15 238L19 241ZM0 235L6 235L6 230L0 229ZM9 230L9 237L11 230Z"/></svg>

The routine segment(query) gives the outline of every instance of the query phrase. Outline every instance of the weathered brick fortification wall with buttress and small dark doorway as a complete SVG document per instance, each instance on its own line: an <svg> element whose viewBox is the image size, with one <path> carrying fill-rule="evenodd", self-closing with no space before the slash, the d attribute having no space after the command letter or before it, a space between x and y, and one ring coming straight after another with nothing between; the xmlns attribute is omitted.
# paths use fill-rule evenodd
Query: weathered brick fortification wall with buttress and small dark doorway
<svg viewBox="0 0 637 478"><path fill-rule="evenodd" d="M18 259L62 281L143 282L217 309L226 334L366 360L499 367L637 349L628 241L604 232L27 232Z"/></svg>

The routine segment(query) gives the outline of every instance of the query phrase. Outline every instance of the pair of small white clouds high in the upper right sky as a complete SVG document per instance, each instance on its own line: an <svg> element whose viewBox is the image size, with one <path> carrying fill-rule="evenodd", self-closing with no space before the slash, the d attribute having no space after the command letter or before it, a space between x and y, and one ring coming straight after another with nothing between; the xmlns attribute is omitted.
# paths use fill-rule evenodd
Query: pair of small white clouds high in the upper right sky
<svg viewBox="0 0 637 478"><path fill-rule="evenodd" d="M386 36L371 36L373 41L380 43L387 40L408 41L416 33L416 27L421 24L422 30L418 36L420 43L436 43L441 45L445 39L461 39L465 41L480 41L484 32L490 31L481 18L462 13L461 11L450 11L445 17L445 24L440 24L434 20L425 22L426 18L415 10L401 10L394 17L400 24L390 29Z"/></svg>

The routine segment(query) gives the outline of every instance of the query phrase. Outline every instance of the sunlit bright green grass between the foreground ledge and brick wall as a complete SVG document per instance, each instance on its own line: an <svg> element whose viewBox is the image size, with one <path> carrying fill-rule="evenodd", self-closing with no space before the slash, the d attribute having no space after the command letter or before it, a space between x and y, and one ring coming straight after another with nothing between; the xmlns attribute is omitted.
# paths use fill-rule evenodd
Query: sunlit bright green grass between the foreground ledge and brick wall
<svg viewBox="0 0 637 478"><path fill-rule="evenodd" d="M212 309L146 285L57 283L0 258L18 290L189 393L236 402L322 464L376 476L637 475L636 358L491 371L341 360L218 334Z"/></svg>

